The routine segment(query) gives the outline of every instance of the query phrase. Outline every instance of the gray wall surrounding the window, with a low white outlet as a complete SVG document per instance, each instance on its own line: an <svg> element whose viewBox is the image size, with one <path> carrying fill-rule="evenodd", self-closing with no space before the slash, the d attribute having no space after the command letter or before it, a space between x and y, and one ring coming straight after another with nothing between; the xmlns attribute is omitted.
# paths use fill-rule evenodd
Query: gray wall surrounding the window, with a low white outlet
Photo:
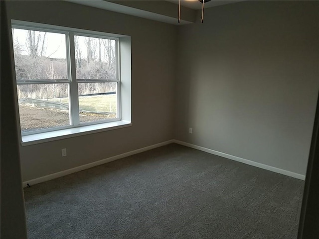
<svg viewBox="0 0 319 239"><path fill-rule="evenodd" d="M132 36L133 126L20 147L23 181L173 138L176 26L62 1L7 6L11 19Z"/></svg>

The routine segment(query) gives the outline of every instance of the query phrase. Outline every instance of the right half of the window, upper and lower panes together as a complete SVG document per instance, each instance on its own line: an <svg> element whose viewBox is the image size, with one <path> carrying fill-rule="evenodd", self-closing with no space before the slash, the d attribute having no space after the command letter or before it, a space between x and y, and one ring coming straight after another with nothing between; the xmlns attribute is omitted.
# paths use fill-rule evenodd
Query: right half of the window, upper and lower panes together
<svg viewBox="0 0 319 239"><path fill-rule="evenodd" d="M118 119L117 41L74 36L80 123Z"/></svg>

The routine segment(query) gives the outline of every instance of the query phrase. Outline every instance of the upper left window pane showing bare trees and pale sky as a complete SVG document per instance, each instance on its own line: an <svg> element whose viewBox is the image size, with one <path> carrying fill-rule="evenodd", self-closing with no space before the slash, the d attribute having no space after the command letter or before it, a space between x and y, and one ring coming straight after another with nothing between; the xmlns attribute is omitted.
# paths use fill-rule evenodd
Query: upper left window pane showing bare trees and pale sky
<svg viewBox="0 0 319 239"><path fill-rule="evenodd" d="M12 28L17 80L67 79L65 34Z"/></svg>

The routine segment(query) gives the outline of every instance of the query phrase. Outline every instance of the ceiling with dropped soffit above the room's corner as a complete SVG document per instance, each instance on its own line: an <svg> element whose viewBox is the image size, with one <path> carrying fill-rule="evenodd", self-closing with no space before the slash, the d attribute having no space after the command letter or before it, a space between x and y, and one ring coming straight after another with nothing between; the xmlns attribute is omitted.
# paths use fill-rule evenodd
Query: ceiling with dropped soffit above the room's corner
<svg viewBox="0 0 319 239"><path fill-rule="evenodd" d="M175 25L190 24L196 21L198 0L181 0L181 23L178 23L179 0L65 0L76 4L134 15ZM234 3L242 0L211 0L205 8Z"/></svg>

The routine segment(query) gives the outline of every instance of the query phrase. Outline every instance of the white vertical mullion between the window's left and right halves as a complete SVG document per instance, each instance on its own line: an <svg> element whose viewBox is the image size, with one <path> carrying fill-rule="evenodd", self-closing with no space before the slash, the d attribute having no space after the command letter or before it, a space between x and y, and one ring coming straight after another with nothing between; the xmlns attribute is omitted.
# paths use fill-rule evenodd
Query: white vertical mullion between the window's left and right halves
<svg viewBox="0 0 319 239"><path fill-rule="evenodd" d="M74 33L69 32L69 62L71 77L70 86L70 119L71 124L76 126L80 124L79 118L79 97L78 97L78 84L76 81L76 63L75 63L75 47L74 47Z"/></svg>

